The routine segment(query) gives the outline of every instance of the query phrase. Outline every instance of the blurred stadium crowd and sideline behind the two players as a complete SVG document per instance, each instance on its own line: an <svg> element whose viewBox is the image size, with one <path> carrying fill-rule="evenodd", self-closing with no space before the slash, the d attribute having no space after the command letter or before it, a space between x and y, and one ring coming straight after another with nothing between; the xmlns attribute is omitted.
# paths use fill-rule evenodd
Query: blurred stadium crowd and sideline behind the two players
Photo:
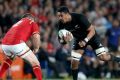
<svg viewBox="0 0 120 80"><path fill-rule="evenodd" d="M42 43L36 56L41 63L43 77L45 80L48 78L71 80L71 47L66 45L62 48L57 40L55 12L61 5L66 5L71 12L84 13L96 26L96 31L106 49L113 55L120 56L120 0L0 0L0 43L4 34L22 14L32 13L38 17L40 24ZM1 64L4 56L2 52L0 53ZM88 47L81 59L78 77L119 80L120 65L98 60L91 47ZM30 80L35 76L30 65L17 57L3 78Z"/></svg>

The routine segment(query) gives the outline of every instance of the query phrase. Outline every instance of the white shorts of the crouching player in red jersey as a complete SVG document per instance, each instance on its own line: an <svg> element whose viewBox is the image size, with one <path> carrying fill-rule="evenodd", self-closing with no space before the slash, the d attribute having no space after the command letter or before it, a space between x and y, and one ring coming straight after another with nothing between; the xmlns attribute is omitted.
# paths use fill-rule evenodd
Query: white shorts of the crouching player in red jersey
<svg viewBox="0 0 120 80"><path fill-rule="evenodd" d="M4 45L2 44L2 49L4 53L9 56L19 56L21 58L26 57L30 53L33 53L30 48L26 45L26 43L20 43L16 45Z"/></svg>

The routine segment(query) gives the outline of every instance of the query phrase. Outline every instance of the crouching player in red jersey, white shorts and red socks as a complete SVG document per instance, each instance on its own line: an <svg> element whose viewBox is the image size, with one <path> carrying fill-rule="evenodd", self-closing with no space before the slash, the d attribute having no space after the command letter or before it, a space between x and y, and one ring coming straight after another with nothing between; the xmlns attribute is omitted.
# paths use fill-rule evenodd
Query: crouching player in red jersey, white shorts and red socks
<svg viewBox="0 0 120 80"><path fill-rule="evenodd" d="M26 42L31 38L33 51L27 46ZM29 62L37 80L42 80L40 63L35 56L40 47L39 27L35 17L29 13L25 14L20 21L14 24L6 33L2 40L2 50L6 55L5 62L0 70L0 78L12 64L15 56Z"/></svg>

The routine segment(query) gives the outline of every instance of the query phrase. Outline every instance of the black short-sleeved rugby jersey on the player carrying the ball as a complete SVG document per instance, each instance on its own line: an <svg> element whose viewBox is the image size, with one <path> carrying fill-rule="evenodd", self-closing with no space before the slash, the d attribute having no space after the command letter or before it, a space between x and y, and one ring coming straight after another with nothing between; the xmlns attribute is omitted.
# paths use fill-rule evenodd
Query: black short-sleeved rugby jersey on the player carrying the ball
<svg viewBox="0 0 120 80"><path fill-rule="evenodd" d="M87 29L91 23L83 14L71 13L70 15L72 17L70 22L58 22L58 30L66 29L73 34L74 38L84 39L88 34Z"/></svg>

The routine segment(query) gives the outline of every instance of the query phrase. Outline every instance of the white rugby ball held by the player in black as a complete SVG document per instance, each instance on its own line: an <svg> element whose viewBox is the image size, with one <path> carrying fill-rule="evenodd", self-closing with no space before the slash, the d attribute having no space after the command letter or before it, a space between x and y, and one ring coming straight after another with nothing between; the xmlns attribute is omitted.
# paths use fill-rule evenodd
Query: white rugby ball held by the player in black
<svg viewBox="0 0 120 80"><path fill-rule="evenodd" d="M58 32L58 36L60 37L61 40L63 40L63 37L67 37L67 34L70 34L71 39L69 41L72 41L73 39L73 35L70 31L66 30L66 29L61 29Z"/></svg>

